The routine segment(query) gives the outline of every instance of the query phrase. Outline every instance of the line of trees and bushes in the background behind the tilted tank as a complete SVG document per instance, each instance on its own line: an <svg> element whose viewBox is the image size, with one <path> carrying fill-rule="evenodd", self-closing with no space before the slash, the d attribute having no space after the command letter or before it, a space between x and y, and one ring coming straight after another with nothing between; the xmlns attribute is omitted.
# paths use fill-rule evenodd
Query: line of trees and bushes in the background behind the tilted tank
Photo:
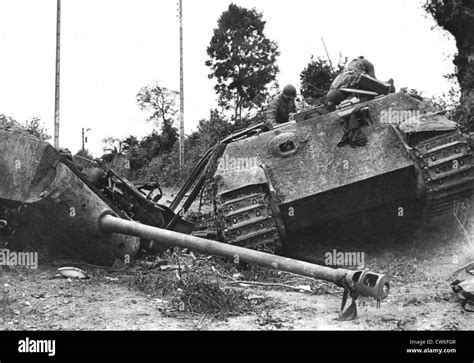
<svg viewBox="0 0 474 363"><path fill-rule="evenodd" d="M194 132L184 140L185 170L178 170L179 94L158 82L144 86L137 94L138 107L149 113L153 132L138 140L104 139L104 150L125 153L130 160L128 176L132 180L159 180L175 185L189 175L208 148L232 132L265 121L269 99L279 92L276 77L280 51L278 44L265 35L263 14L254 9L230 4L217 20L207 47L208 77L215 81L218 108L199 120ZM324 97L334 77L347 59L340 58L336 69L328 60L311 57L300 74L301 97L309 104Z"/></svg>

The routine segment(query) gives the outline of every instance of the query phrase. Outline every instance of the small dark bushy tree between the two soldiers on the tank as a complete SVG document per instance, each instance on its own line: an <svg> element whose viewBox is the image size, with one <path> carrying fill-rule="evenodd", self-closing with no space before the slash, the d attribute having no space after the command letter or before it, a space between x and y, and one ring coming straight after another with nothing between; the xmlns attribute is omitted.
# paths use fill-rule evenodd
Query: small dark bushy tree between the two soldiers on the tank
<svg viewBox="0 0 474 363"><path fill-rule="evenodd" d="M311 56L311 60L300 73L301 95L305 98L318 99L326 95L332 81L344 69L347 58L340 56L336 69L326 59Z"/></svg>

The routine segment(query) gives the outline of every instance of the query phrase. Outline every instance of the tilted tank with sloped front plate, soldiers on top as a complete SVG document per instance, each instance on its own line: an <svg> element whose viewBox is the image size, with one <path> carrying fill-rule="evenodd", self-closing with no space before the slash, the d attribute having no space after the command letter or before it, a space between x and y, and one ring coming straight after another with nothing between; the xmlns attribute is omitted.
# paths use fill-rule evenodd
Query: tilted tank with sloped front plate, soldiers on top
<svg viewBox="0 0 474 363"><path fill-rule="evenodd" d="M351 116L364 146L342 145ZM449 223L470 207L472 141L408 92L315 107L272 130L253 127L226 139L218 159L220 233L239 246L285 250L302 234L317 243L328 231L335 239Z"/></svg>

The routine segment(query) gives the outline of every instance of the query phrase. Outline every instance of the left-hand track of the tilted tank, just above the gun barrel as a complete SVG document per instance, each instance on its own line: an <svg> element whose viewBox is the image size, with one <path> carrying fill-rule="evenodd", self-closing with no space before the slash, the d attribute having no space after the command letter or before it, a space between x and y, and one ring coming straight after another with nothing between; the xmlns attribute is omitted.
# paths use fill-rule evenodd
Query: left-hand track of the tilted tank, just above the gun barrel
<svg viewBox="0 0 474 363"><path fill-rule="evenodd" d="M249 185L217 198L222 235L227 243L272 253L280 246L267 188L265 184Z"/></svg>

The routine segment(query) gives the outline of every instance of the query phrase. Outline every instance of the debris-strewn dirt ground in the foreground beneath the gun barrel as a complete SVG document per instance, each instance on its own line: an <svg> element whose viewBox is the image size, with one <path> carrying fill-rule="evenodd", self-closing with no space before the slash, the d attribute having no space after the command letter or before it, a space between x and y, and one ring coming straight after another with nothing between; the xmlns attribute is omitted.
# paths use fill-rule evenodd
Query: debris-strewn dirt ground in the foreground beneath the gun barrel
<svg viewBox="0 0 474 363"><path fill-rule="evenodd" d="M318 248L320 253L327 251L327 247L312 246L313 253L318 253ZM0 327L4 330L474 329L474 313L462 308L449 285L454 280L450 276L452 272L474 261L474 250L461 229L372 244L363 251L365 267L387 274L391 291L379 309L375 301L359 299L359 316L352 321L337 320L342 290L331 283L257 267L245 271L221 258L179 251L170 260L160 260L160 264L143 262L146 273L153 276L167 273L173 278L177 276L173 264L178 259L180 268L189 265L189 271L205 271L222 288L241 290L250 308L224 317L173 310L166 296L134 287L143 266L114 271L57 260L41 264L37 270L2 267ZM71 264L81 267L90 278L55 277L58 266ZM161 265L169 266L171 271L163 272ZM186 271L181 274L186 275ZM457 277L465 279L469 275L461 272ZM242 280L250 282L239 284ZM254 282L275 285L253 285Z"/></svg>

